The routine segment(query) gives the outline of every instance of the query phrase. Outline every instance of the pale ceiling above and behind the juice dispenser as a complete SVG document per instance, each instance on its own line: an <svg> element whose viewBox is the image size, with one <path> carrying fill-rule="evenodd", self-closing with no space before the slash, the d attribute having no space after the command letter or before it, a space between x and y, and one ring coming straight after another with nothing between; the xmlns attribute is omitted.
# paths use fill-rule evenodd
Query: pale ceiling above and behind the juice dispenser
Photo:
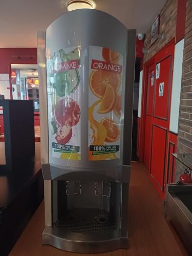
<svg viewBox="0 0 192 256"><path fill-rule="evenodd" d="M37 47L36 32L62 13L68 0L0 0L0 48ZM96 9L145 33L166 0L95 0Z"/></svg>

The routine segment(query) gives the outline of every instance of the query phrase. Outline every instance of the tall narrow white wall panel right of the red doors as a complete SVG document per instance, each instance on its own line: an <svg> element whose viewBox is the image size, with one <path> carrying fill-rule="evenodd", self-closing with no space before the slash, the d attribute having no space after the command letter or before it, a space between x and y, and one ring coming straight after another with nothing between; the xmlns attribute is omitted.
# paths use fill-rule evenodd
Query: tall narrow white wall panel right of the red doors
<svg viewBox="0 0 192 256"><path fill-rule="evenodd" d="M180 105L180 94L181 94L182 64L183 64L183 48L184 48L184 39L179 41L175 46L172 99L171 99L171 105L170 105L170 123L169 123L169 130L174 133L178 133L179 105Z"/></svg>

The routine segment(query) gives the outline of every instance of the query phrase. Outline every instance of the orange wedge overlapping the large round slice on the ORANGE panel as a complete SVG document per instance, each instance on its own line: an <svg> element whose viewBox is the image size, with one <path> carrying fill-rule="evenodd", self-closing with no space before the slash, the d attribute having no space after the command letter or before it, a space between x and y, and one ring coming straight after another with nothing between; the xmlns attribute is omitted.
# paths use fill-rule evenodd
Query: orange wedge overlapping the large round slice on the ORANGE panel
<svg viewBox="0 0 192 256"><path fill-rule="evenodd" d="M98 113L104 114L110 112L114 108L116 102L116 92L110 84L106 85L106 89L98 108Z"/></svg>

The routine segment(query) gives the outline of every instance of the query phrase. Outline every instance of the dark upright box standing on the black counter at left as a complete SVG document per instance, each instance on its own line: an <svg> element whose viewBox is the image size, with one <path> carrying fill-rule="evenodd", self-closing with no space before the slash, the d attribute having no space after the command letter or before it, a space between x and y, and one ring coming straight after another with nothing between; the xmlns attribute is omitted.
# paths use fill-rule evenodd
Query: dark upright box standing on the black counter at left
<svg viewBox="0 0 192 256"><path fill-rule="evenodd" d="M3 106L6 154L6 165L0 165L2 174L34 157L35 136L33 101L0 100L0 106Z"/></svg>

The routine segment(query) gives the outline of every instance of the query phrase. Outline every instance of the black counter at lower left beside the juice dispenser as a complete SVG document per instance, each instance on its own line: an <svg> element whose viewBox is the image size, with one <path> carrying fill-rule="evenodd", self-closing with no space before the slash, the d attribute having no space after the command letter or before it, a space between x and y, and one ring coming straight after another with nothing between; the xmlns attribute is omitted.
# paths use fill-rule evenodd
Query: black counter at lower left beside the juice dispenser
<svg viewBox="0 0 192 256"><path fill-rule="evenodd" d="M14 170L17 175L0 176L0 255L7 256L44 197L40 162Z"/></svg>

